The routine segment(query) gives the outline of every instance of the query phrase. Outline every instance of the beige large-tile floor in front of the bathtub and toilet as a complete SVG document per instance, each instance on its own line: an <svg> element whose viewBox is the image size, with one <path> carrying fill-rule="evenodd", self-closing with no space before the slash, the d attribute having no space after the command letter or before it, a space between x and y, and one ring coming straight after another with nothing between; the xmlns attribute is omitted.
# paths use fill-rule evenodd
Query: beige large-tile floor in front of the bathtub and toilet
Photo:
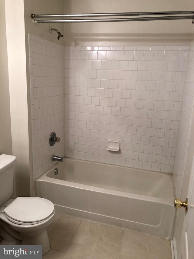
<svg viewBox="0 0 194 259"><path fill-rule="evenodd" d="M56 213L43 259L171 259L170 241Z"/></svg>

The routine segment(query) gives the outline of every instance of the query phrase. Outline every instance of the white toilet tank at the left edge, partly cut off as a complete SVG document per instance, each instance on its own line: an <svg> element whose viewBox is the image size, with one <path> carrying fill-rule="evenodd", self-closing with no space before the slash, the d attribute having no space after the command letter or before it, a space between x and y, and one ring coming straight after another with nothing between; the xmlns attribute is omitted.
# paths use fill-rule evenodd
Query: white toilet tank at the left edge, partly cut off
<svg viewBox="0 0 194 259"><path fill-rule="evenodd" d="M13 155L0 155L0 206L8 200L13 193L13 176L16 157Z"/></svg>

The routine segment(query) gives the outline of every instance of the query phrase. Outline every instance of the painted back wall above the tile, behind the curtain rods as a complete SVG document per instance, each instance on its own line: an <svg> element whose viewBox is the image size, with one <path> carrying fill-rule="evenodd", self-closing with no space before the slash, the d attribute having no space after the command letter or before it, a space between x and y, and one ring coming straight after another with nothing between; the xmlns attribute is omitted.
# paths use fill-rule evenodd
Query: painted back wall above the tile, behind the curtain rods
<svg viewBox="0 0 194 259"><path fill-rule="evenodd" d="M154 12L194 10L192 0L66 0L65 13ZM191 20L65 24L65 45L188 45Z"/></svg>

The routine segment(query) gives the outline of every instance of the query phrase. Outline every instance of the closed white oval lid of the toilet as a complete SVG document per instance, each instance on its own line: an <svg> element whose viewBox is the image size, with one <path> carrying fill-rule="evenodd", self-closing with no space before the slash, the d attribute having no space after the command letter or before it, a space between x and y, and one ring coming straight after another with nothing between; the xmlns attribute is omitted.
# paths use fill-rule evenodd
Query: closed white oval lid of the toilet
<svg viewBox="0 0 194 259"><path fill-rule="evenodd" d="M54 211L54 204L39 197L18 197L5 209L5 215L19 222L40 222Z"/></svg>

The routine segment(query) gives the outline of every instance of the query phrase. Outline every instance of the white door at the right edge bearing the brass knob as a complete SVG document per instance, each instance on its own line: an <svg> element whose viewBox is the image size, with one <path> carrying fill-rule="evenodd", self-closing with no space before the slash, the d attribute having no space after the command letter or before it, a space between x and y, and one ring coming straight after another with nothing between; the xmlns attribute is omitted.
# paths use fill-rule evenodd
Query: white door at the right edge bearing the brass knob
<svg viewBox="0 0 194 259"><path fill-rule="evenodd" d="M194 159L188 189L189 207L182 229L182 259L194 259ZM182 210L182 209L181 209Z"/></svg>

